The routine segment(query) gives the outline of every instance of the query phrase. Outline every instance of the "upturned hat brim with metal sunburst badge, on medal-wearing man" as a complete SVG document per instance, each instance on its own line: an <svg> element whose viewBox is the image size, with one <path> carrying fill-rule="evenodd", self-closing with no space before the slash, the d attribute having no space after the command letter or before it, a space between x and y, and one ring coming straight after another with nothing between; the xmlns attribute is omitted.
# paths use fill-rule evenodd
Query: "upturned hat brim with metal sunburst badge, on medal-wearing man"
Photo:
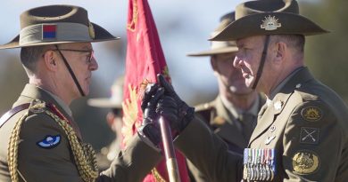
<svg viewBox="0 0 348 182"><path fill-rule="evenodd" d="M261 28L266 17L277 19L281 27L274 30ZM247 36L262 35L303 35L312 36L328 33L307 18L291 12L260 12L244 16L228 25L210 41L236 41Z"/></svg>

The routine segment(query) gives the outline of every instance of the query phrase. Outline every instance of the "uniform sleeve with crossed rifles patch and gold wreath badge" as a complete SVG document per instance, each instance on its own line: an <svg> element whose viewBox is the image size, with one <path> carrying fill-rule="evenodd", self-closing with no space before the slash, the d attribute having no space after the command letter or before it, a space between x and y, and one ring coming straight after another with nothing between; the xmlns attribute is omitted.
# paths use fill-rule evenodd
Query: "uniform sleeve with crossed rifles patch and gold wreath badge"
<svg viewBox="0 0 348 182"><path fill-rule="evenodd" d="M283 138L284 181L334 181L344 147L342 130L323 101L295 107Z"/></svg>

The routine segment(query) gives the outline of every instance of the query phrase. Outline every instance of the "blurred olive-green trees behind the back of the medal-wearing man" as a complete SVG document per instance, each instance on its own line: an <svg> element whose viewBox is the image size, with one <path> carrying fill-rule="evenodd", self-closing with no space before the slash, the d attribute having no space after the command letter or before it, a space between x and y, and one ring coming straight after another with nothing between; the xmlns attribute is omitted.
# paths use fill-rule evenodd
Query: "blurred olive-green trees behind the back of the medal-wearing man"
<svg viewBox="0 0 348 182"><path fill-rule="evenodd" d="M305 62L312 73L348 103L348 1L300 2L301 13L330 31L308 36Z"/></svg>

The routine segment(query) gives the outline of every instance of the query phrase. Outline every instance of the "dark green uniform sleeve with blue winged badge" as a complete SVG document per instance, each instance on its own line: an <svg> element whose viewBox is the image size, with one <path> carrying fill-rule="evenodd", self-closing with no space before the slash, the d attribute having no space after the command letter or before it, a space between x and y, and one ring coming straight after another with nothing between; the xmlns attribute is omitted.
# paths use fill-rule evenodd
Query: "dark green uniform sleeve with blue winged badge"
<svg viewBox="0 0 348 182"><path fill-rule="evenodd" d="M70 144L58 123L45 114L30 115L21 125L18 170L26 181L82 181Z"/></svg>

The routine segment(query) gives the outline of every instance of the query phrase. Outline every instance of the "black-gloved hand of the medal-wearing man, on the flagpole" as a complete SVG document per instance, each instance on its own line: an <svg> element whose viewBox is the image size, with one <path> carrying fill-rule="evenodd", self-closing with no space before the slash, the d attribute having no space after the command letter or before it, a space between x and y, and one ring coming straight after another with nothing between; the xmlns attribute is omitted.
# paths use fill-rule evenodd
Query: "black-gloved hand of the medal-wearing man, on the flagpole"
<svg viewBox="0 0 348 182"><path fill-rule="evenodd" d="M170 128L174 136L183 131L187 124L192 121L195 108L189 107L186 102L178 97L178 94L163 75L157 75L157 81L165 91L164 97L158 101L156 112L170 122Z"/></svg>

